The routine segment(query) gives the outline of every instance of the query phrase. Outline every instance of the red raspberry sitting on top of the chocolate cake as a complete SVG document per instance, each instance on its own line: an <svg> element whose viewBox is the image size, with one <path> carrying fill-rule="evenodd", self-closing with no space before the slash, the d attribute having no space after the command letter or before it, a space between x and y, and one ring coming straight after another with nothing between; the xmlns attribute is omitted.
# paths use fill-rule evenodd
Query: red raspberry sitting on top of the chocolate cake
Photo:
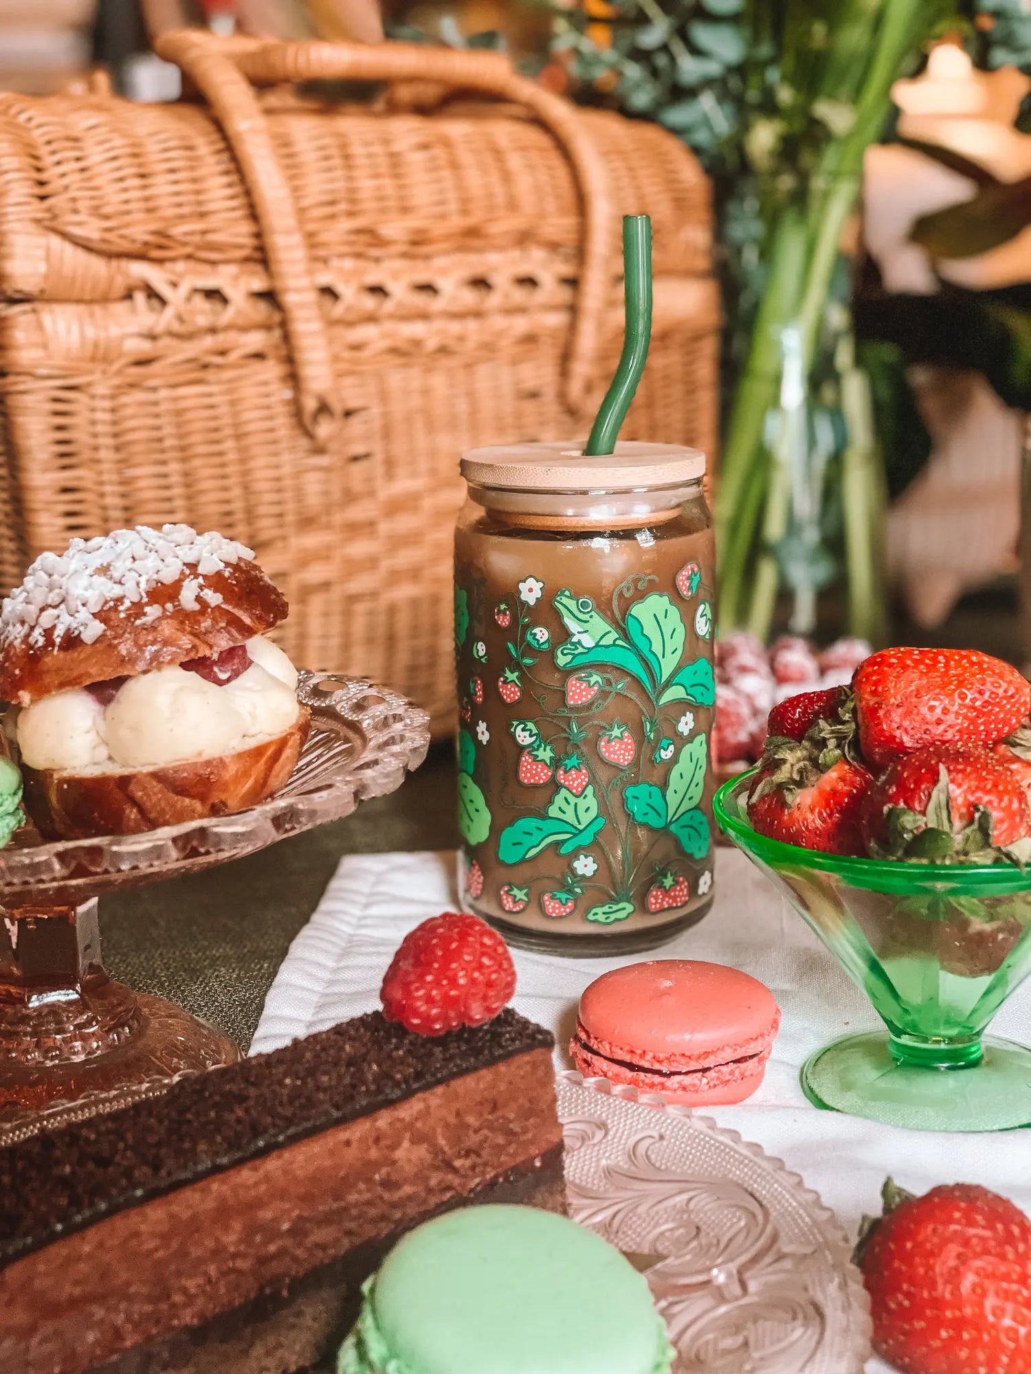
<svg viewBox="0 0 1031 1374"><path fill-rule="evenodd" d="M478 1026L516 991L502 937L478 916L445 911L410 930L386 970L379 999L388 1021L417 1035Z"/></svg>

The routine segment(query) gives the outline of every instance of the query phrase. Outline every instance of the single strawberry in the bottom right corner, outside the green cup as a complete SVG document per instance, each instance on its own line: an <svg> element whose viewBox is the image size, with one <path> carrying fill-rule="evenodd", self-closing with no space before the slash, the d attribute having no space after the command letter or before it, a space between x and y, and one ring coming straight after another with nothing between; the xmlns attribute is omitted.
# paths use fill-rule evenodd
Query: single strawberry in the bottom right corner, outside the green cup
<svg viewBox="0 0 1031 1374"><path fill-rule="evenodd" d="M873 1348L903 1374L1031 1374L1031 1221L975 1183L913 1197L888 1179L856 1263Z"/></svg>

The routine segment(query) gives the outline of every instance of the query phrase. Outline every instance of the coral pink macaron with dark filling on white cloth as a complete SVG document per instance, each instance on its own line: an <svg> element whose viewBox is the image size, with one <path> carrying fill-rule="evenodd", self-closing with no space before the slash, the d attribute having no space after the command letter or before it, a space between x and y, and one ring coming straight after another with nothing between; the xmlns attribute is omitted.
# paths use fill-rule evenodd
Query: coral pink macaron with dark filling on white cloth
<svg viewBox="0 0 1031 1374"><path fill-rule="evenodd" d="M779 1024L757 978L722 963L652 959L595 978L569 1052L584 1077L715 1106L755 1092Z"/></svg>

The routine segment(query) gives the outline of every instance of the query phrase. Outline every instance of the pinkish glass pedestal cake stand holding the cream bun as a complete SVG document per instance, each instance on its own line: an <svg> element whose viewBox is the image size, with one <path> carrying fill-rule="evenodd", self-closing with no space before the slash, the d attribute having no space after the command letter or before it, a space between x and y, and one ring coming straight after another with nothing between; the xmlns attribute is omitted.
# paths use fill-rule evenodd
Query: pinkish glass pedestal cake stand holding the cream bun
<svg viewBox="0 0 1031 1374"><path fill-rule="evenodd" d="M348 816L426 756L429 717L395 692L302 672L297 697L311 736L287 785L260 807L99 840L45 842L26 830L0 851L0 1145L241 1058L220 1030L107 977L98 897Z"/></svg>

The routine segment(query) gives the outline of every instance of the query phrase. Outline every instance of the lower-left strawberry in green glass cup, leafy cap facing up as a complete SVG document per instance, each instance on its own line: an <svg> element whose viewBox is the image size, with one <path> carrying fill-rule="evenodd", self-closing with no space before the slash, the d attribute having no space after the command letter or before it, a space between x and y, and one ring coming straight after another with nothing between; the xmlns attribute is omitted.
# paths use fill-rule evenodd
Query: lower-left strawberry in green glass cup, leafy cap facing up
<svg viewBox="0 0 1031 1374"><path fill-rule="evenodd" d="M782 739L767 747L748 798L748 819L760 835L803 849L861 855L863 800L873 778L837 750Z"/></svg>

